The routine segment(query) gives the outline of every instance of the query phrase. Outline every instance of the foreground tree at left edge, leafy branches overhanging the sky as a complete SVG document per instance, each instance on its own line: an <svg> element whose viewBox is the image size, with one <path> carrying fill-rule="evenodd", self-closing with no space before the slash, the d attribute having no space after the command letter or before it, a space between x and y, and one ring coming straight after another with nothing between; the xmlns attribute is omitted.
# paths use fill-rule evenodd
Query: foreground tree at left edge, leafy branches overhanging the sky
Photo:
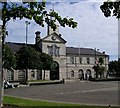
<svg viewBox="0 0 120 108"><path fill-rule="evenodd" d="M33 0L34 1L34 0ZM8 21L13 19L14 21L19 18L27 18L34 20L37 24L44 27L44 22L51 26L54 30L56 29L55 22L58 21L61 26L66 25L72 28L77 27L77 22L73 21L73 18L62 18L57 12L47 12L45 7L46 3L42 2L1 2L2 4L2 50L4 51L4 38L5 38L5 27ZM54 17L55 20L51 20L50 17ZM3 55L4 56L4 55ZM3 60L2 60L3 62ZM2 71L3 74L3 71ZM0 76L3 79L2 75ZM0 82L2 85L2 82ZM1 104L1 100L0 100Z"/></svg>

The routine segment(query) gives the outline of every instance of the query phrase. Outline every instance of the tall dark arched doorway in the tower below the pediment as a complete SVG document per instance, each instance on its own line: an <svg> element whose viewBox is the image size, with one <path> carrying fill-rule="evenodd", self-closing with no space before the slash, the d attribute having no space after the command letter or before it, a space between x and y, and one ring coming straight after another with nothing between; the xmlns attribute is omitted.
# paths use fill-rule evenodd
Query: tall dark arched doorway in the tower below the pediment
<svg viewBox="0 0 120 108"><path fill-rule="evenodd" d="M59 64L56 61L51 65L50 80L59 80Z"/></svg>

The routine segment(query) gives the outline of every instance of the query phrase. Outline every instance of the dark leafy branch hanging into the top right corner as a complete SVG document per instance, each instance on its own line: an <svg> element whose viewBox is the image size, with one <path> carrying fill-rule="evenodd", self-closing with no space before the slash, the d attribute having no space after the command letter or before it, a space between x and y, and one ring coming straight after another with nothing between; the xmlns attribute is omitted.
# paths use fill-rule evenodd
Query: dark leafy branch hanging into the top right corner
<svg viewBox="0 0 120 108"><path fill-rule="evenodd" d="M117 19L120 18L120 1L112 2L108 0L100 6L100 9L105 17L115 16Z"/></svg>

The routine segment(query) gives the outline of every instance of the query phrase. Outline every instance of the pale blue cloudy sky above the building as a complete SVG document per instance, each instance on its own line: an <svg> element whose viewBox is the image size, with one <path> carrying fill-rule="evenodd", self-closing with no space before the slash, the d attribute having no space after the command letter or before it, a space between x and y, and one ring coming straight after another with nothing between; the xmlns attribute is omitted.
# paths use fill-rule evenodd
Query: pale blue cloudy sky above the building
<svg viewBox="0 0 120 108"><path fill-rule="evenodd" d="M59 0L58 0L59 1ZM53 8L62 17L73 18L78 26L75 29L59 27L69 47L96 48L110 55L110 60L116 60L118 56L118 20L115 17L106 18L100 10L103 0L70 0L68 2L51 2L47 4L47 10ZM66 2L65 2L66 1ZM28 43L35 43L35 32L40 31L41 37L47 35L47 25L40 27L33 21L23 19L9 21L7 23L7 42L25 43L25 21L29 21Z"/></svg>

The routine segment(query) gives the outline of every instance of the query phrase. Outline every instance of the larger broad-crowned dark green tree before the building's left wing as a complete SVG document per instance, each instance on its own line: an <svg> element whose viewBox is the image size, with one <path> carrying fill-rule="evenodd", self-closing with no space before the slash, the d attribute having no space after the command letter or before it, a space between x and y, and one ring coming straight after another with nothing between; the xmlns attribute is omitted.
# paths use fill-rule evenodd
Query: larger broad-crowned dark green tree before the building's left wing
<svg viewBox="0 0 120 108"><path fill-rule="evenodd" d="M26 70L26 81L28 80L28 69L37 69L40 65L39 53L30 46L24 46L16 53L16 69Z"/></svg>

